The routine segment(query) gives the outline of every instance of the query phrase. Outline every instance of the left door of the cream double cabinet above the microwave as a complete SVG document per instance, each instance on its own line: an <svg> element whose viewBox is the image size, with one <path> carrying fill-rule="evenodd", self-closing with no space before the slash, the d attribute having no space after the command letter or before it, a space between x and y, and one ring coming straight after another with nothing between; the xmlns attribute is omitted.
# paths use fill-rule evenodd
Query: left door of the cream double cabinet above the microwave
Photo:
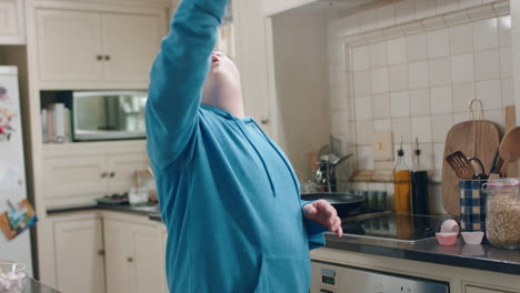
<svg viewBox="0 0 520 293"><path fill-rule="evenodd" d="M102 79L99 13L41 9L36 16L42 81Z"/></svg>

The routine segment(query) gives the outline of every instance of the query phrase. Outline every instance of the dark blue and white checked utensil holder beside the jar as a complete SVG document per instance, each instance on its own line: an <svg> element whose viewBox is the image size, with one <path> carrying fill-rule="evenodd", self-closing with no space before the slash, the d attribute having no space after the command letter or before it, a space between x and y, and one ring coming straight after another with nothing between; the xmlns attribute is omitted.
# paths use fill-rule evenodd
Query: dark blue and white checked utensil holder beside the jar
<svg viewBox="0 0 520 293"><path fill-rule="evenodd" d="M460 180L460 228L462 231L486 231L486 199L482 185L488 180Z"/></svg>

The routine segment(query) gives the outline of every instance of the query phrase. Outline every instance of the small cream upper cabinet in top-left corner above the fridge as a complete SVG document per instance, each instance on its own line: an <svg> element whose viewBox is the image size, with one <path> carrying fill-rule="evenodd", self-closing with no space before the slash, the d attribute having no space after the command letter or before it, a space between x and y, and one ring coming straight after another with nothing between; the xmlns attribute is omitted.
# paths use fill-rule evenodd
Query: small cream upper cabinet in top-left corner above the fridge
<svg viewBox="0 0 520 293"><path fill-rule="evenodd" d="M0 0L0 44L26 43L23 0Z"/></svg>

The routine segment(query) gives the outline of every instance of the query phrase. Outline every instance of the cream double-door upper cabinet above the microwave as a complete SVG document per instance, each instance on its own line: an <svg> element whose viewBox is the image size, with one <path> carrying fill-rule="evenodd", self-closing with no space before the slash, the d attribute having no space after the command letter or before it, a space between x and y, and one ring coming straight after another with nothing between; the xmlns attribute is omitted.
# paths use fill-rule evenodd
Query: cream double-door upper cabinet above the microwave
<svg viewBox="0 0 520 293"><path fill-rule="evenodd" d="M36 11L42 82L148 82L166 34L164 11Z"/></svg>

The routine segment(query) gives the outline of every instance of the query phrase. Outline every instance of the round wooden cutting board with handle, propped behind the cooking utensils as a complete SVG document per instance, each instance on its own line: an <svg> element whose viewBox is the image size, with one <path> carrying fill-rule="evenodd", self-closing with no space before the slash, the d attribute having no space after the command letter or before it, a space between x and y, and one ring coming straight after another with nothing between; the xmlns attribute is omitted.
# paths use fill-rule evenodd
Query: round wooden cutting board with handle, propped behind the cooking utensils
<svg viewBox="0 0 520 293"><path fill-rule="evenodd" d="M478 107L474 112L476 104ZM469 112L470 121L456 124L448 132L444 158L456 151L462 151L469 156L479 158L488 169L500 145L500 131L494 123L481 120L482 103L479 100L470 102ZM459 178L446 161L442 164L442 203L450 215L460 215Z"/></svg>

